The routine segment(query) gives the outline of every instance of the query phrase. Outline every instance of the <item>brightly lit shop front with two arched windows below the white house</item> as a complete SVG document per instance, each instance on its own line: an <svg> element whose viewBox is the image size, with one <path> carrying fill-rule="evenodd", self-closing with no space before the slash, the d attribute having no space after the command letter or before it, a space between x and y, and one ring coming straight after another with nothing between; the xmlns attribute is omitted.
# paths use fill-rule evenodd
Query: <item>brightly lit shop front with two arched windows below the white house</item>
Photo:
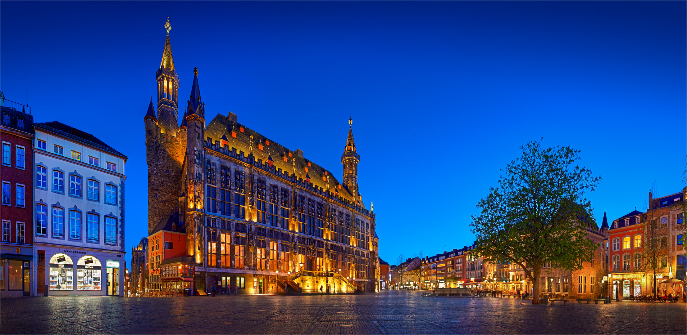
<svg viewBox="0 0 687 335"><path fill-rule="evenodd" d="M47 295L120 295L122 275L117 254L93 250L41 250L47 264L38 273L45 273ZM45 289L43 290L45 292Z"/></svg>

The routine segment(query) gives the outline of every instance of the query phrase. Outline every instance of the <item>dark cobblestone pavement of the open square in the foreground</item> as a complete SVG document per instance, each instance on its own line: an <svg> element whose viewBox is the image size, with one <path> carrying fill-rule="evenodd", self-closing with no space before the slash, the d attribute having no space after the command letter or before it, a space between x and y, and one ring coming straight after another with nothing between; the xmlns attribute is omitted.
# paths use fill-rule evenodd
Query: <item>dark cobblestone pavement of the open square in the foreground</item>
<svg viewBox="0 0 687 335"><path fill-rule="evenodd" d="M27 297L0 301L1 334L686 334L685 303L531 305L509 298Z"/></svg>

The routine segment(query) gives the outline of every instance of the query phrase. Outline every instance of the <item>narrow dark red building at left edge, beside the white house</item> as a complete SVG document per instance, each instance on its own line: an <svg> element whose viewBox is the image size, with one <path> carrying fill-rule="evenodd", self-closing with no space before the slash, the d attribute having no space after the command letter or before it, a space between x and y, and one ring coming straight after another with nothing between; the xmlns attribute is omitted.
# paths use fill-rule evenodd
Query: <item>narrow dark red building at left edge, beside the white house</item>
<svg viewBox="0 0 687 335"><path fill-rule="evenodd" d="M36 293L33 257L34 117L29 106L0 97L2 102L2 254L0 297Z"/></svg>

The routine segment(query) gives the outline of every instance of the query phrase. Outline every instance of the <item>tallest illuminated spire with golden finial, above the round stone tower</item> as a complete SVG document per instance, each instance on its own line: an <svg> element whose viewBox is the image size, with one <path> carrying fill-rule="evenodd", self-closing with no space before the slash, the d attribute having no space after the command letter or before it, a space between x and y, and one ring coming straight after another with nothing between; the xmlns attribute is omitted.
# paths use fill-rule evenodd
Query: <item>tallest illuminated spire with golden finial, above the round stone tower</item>
<svg viewBox="0 0 687 335"><path fill-rule="evenodd" d="M165 30L167 30L165 49L162 52L160 67L155 73L157 80L157 119L161 132L165 133L175 133L179 130L177 123L179 118L179 76L177 76L177 71L174 71L169 35L171 29L172 26L167 19L165 23Z"/></svg>

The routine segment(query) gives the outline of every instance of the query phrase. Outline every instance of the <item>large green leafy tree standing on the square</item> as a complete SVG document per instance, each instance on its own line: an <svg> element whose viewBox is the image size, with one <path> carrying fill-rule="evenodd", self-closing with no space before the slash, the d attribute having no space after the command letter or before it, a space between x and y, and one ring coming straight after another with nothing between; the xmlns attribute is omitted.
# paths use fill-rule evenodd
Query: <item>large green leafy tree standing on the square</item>
<svg viewBox="0 0 687 335"><path fill-rule="evenodd" d="M520 146L522 157L510 161L499 187L491 188L477 207L471 232L474 249L484 262L518 264L532 281L532 303L539 304L541 266L577 270L589 262L599 244L587 238L592 204L584 197L600 177L575 165L579 151L570 147L541 148L541 141Z"/></svg>

